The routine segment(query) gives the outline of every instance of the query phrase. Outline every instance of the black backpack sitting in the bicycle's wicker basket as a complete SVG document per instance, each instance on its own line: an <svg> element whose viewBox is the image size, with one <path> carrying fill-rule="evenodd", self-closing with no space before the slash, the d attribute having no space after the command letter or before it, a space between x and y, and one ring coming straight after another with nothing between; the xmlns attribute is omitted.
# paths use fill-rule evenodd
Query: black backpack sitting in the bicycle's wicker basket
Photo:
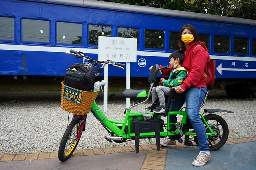
<svg viewBox="0 0 256 170"><path fill-rule="evenodd" d="M64 79L64 84L79 90L92 92L94 86L94 68L90 64L72 64Z"/></svg>

